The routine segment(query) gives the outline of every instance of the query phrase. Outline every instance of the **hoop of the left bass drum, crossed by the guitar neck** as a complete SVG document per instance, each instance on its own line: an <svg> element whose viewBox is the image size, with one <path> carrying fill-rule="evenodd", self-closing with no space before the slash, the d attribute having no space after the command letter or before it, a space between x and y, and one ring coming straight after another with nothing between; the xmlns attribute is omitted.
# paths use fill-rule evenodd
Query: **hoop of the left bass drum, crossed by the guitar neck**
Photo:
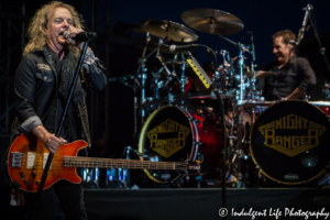
<svg viewBox="0 0 330 220"><path fill-rule="evenodd" d="M191 117L190 113L189 113L188 111L186 111L185 109L183 109L183 108L180 108L180 107L177 107L177 106L169 106L169 105L166 105L166 106L162 106L160 109L156 109L155 111L153 111L153 112L150 114L150 117L146 119L145 123L144 123L143 127L142 127L142 130L141 130L141 133L140 133L140 139L139 139L139 148L138 148L139 153L143 153L142 146L143 146L143 143L144 143L145 138L146 138L146 135L143 135L143 134L145 134L146 130L148 129L148 125L150 125L151 120L154 119L154 117L155 117L161 110L163 110L163 109L165 109L165 108L169 108L169 107L176 108L176 109L180 110L180 111L186 116L187 119L188 119L189 117ZM197 132L197 129L196 129L196 128L193 128L193 127L194 127L194 123L193 123L193 122L189 122L189 124L190 124L190 129L191 129L191 131L193 131L193 141L194 141L194 140L196 139L196 136L198 136L198 135L197 135L198 133L196 133L196 132ZM191 146L191 152L190 152L190 155L189 155L189 160L191 160L193 154L194 154L194 161L196 160L196 153L195 153L196 150L195 150L195 147L197 147L197 152L198 152L198 145L197 145L197 146ZM195 150L195 151L194 151L194 150ZM139 156L139 157L140 157L140 161L144 161L144 160L143 160L143 156ZM147 176L150 179L152 179L152 180L154 180L154 182L156 182L156 183L158 183L158 184L168 184L168 183L170 183L170 182L175 182L175 180L177 180L177 179L179 179L179 178L183 178L183 177L186 175L186 174L180 174L179 172L177 172L177 173L178 173L178 176L175 177L174 179L168 180L168 182L162 182L162 180L156 179L153 175L151 175L151 173L148 172L148 169L143 169L143 172L146 174L146 176Z"/></svg>

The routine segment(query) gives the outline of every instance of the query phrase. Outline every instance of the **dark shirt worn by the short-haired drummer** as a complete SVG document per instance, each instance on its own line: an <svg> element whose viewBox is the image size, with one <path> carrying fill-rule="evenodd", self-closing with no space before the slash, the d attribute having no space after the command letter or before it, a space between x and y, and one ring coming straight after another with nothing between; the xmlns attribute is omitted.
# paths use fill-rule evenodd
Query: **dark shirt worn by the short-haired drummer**
<svg viewBox="0 0 330 220"><path fill-rule="evenodd" d="M262 90L267 101L286 98L297 87L308 92L316 85L315 73L304 57L294 56L282 68L278 68L277 62L273 62L264 70L277 74L273 78L258 79L256 82L256 89Z"/></svg>

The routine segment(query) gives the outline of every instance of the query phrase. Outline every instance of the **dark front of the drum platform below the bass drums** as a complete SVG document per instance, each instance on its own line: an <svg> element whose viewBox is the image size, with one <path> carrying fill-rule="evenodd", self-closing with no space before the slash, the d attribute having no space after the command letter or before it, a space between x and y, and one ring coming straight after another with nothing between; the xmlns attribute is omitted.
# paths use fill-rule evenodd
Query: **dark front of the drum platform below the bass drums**
<svg viewBox="0 0 330 220"><path fill-rule="evenodd" d="M222 190L86 189L85 202L90 220L216 220L221 219ZM299 210L310 216L322 209L329 215L330 189L228 189L227 208L228 219L253 219L253 213L255 219L287 219ZM305 219L301 215L296 218Z"/></svg>

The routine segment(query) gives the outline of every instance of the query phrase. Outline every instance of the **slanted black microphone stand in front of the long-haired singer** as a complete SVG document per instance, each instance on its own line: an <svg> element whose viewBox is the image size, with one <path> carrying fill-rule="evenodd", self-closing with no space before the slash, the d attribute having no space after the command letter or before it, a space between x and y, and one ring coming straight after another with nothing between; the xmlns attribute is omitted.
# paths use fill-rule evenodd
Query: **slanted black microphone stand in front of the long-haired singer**
<svg viewBox="0 0 330 220"><path fill-rule="evenodd" d="M75 90L75 87L76 87L76 84L77 84L77 80L78 80L78 76L79 76L79 72L80 72L80 68L81 68L81 65L82 65L82 61L84 61L84 57L85 57L85 54L86 54L86 50L88 47L88 44L89 42L96 37L96 34L94 35L87 35L87 41L84 45L84 48L80 53L80 57L79 57L79 61L78 61L78 65L76 66L76 74L75 74L75 78L73 80L73 84L70 86L70 90L69 90L69 96L67 98L67 102L66 102L66 107L62 113L62 119L61 119L61 123L59 123L59 127L57 129L57 132L56 132L56 136L59 138L59 134L61 134L61 131L63 129L63 123L64 123L64 120L65 120L65 116L66 116L66 112L68 110L68 106L72 101L72 97L73 97L73 94L74 94L74 90ZM42 193L43 193L43 189L44 189L44 185L45 185L45 180L47 178L47 175L48 175L48 172L50 172L50 167L51 167L51 164L52 164L52 161L53 161L53 157L54 157L54 154L50 152L50 155L48 155L48 158L47 158L47 163L46 163L46 166L45 166L45 169L44 169L44 173L43 173L43 176L42 176L42 179L41 179L41 183L38 185L38 188L37 188L37 193L36 193L36 198L35 198L35 204L34 204L34 207L32 209L32 212L31 212L31 218L30 220L33 220L34 218L34 215L35 215L35 211L36 211L36 208L37 208L37 205L40 202L40 199L41 199L41 196L42 196Z"/></svg>

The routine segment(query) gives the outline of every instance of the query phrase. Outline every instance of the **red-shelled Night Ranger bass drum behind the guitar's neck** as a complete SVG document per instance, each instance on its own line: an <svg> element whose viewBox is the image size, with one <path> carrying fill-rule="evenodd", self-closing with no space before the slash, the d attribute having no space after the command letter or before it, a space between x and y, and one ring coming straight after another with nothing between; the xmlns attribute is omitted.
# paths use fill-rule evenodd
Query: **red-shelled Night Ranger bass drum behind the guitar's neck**
<svg viewBox="0 0 330 220"><path fill-rule="evenodd" d="M146 160L154 162L200 161L208 165L209 174L217 178L221 170L221 130L215 116L179 107L161 107L143 125L139 152L147 154ZM144 173L160 184L168 184L184 176L167 169L144 169Z"/></svg>

